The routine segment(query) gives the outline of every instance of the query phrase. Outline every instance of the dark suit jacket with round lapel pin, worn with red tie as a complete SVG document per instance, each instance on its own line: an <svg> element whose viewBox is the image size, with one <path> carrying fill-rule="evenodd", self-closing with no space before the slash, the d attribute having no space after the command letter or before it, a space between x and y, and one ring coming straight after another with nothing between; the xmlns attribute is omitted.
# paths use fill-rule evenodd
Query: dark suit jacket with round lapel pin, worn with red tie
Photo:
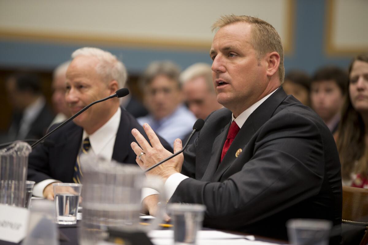
<svg viewBox="0 0 368 245"><path fill-rule="evenodd" d="M170 202L206 205L205 226L284 240L292 218L332 220L340 229L339 155L315 112L279 88L245 121L219 164L230 123L226 108L206 119L184 153L182 173L190 178Z"/></svg>

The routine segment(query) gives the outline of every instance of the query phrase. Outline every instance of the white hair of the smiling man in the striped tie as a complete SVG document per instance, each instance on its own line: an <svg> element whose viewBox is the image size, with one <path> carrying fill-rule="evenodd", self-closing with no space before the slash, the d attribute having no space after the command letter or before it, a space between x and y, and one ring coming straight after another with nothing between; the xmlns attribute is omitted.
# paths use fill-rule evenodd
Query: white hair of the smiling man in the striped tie
<svg viewBox="0 0 368 245"><path fill-rule="evenodd" d="M99 73L106 82L116 80L119 89L125 86L128 73L124 64L119 61L115 55L100 48L84 47L75 50L71 57L74 59L79 55L97 58L99 63L96 65L96 72Z"/></svg>

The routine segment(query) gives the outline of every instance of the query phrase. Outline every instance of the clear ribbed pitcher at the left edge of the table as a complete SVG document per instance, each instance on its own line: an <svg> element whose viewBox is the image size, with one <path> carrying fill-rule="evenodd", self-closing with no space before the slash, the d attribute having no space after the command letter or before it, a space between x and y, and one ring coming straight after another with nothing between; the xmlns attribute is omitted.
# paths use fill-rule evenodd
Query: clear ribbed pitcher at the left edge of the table
<svg viewBox="0 0 368 245"><path fill-rule="evenodd" d="M24 207L28 155L31 151L31 146L22 141L16 141L0 149L1 204Z"/></svg>

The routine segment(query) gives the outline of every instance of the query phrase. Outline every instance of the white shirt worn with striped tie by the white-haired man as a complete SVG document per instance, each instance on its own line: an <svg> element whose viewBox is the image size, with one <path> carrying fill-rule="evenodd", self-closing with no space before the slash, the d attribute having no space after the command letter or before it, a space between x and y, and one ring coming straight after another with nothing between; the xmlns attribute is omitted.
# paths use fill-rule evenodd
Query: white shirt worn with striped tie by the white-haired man
<svg viewBox="0 0 368 245"><path fill-rule="evenodd" d="M88 135L86 131L83 130L82 144L83 140L86 137L89 137L89 141L91 143L90 151L92 151L96 156L101 156L110 161L112 159L114 151L116 133L120 125L120 117L121 117L121 109L120 107L118 107L115 114L93 134ZM43 197L43 190L47 185L53 182L60 182L60 181L53 179L40 181L33 187L32 194L36 197Z"/></svg>

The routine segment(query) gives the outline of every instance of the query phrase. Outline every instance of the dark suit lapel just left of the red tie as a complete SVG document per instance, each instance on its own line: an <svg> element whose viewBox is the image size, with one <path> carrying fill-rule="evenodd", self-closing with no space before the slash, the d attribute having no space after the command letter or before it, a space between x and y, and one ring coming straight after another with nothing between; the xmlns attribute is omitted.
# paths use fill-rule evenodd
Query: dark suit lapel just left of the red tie
<svg viewBox="0 0 368 245"><path fill-rule="evenodd" d="M230 124L231 124L231 120L230 120L230 123L224 128L226 130L223 130L222 133L220 133L216 137L215 142L213 142L211 158L208 162L207 169L205 173L203 174L201 181L210 181L212 179L212 176L215 174L216 169L218 167L218 163L220 162L222 148L225 144L225 140L227 137L227 132L229 131Z"/></svg>

